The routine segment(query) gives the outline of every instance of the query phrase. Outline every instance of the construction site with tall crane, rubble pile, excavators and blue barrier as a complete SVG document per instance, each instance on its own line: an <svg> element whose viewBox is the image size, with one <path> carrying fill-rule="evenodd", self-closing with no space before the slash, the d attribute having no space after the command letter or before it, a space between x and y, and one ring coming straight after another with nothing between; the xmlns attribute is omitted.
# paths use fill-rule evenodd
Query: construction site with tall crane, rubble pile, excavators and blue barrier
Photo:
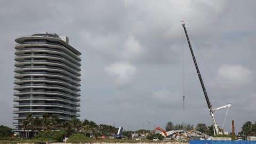
<svg viewBox="0 0 256 144"><path fill-rule="evenodd" d="M199 82L201 83L203 94L204 94L204 97L205 97L205 100L206 100L206 103L207 103L207 107L209 108L209 113L210 113L211 121L212 121L212 125L213 125L213 135L210 136L210 135L207 135L205 133L199 132L195 129L194 130L188 130L188 131L185 131L185 130L165 131L161 127L156 127L155 130L148 131L148 133L140 133L140 134L139 133L133 133L132 134L132 139L146 140L146 139L148 139L147 138L148 135L155 134L155 133L157 133L157 131L160 131L159 133L162 134L163 137L164 137L163 140L174 140L174 141L210 140L210 143L212 143L212 141L216 141L216 140L218 140L218 141L231 141L231 137L229 137L228 135L234 135L234 138L232 140L239 140L239 141L240 140L249 140L249 141L256 142L256 137L247 137L247 139L245 139L245 137L243 138L243 135L235 136L234 120L231 121L232 132L229 133L229 132L225 132L223 130L223 126L225 124L226 117L228 115L228 110L231 107L231 104L226 103L226 105L224 105L224 106L221 106L221 107L218 107L218 108L213 108L213 103L210 101L210 99L207 95L207 91L205 89L205 85L204 85L201 73L199 71L197 61L196 61L196 58L195 58L195 55L194 55L194 52L193 52L193 49L192 49L192 46L191 46L191 43L190 43L190 40L189 40L187 29L186 29L185 23L183 21L182 21L182 27L185 31L187 42L188 42L188 45L189 45L189 49L190 49L190 52L191 52L191 55L192 55L192 58L193 58L193 61L194 61L194 64L195 64L195 68L196 68L196 71L197 71L197 75L198 75L198 78L199 78ZM221 90L221 87L218 87L218 89ZM183 100L184 99L185 99L185 95L184 95L184 92L183 92ZM184 103L183 103L183 107L184 107ZM217 122L216 122L214 112L218 111L218 110L221 110L221 109L226 109L227 113L226 113L226 116L225 116L222 127L219 127ZM123 130L123 127L119 127L118 133L117 133L117 135L115 135L114 138L121 139L122 138L122 130ZM159 139L158 138L153 138L152 140L157 141ZM193 143L193 142L190 141L190 143ZM194 143L198 143L198 142L195 141ZM223 143L225 143L225 142L223 142ZM240 142L240 143L243 143L243 142Z"/></svg>

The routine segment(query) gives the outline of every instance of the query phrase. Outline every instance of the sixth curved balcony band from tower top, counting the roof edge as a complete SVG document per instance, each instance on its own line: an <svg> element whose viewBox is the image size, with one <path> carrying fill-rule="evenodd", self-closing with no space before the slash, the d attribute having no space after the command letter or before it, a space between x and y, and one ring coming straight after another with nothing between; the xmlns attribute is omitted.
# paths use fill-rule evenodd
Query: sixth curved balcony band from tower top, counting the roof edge
<svg viewBox="0 0 256 144"><path fill-rule="evenodd" d="M24 70L49 70L49 71L58 71L59 73L62 73L62 74L66 74L68 76L72 76L73 78L76 78L76 79L81 79L79 76L81 75L74 75L72 73L70 73L69 71L65 70L65 69L62 69L62 68L57 68L57 67L47 67L47 66L25 66L25 67L19 67L19 68L15 68L14 72L15 73L19 73L21 71L24 71Z"/></svg>

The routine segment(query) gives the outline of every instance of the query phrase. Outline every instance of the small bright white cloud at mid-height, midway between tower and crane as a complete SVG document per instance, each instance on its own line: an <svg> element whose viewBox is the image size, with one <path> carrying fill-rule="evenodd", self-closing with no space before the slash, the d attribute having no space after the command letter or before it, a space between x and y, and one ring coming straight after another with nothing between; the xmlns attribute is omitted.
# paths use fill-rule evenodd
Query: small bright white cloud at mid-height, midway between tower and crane
<svg viewBox="0 0 256 144"><path fill-rule="evenodd" d="M136 74L136 67L127 62L116 62L105 67L105 71L114 77L115 85L118 87L130 86Z"/></svg>

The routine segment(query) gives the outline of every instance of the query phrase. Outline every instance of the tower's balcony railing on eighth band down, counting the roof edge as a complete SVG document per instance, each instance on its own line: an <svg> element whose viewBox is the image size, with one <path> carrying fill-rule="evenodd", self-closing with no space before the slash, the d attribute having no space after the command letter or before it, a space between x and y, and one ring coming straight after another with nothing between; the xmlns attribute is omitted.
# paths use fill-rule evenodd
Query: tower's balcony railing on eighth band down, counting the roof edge
<svg viewBox="0 0 256 144"><path fill-rule="evenodd" d="M22 79L15 79L14 80L14 83L15 82L35 82L35 81L38 81L38 82L42 82L42 81L51 81L51 82L59 82L59 83L63 83L67 86L70 86L70 87L73 87L73 89L76 89L77 91L80 91L81 89L73 84L70 84L70 83L67 83L65 81L61 81L60 79L52 79L52 78L22 78Z"/></svg>

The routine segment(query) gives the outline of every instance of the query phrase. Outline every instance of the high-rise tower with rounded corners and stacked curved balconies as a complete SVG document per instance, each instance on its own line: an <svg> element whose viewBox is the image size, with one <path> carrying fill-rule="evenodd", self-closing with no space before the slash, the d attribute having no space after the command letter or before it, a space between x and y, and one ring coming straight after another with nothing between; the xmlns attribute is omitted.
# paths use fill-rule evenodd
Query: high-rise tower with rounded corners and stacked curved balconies
<svg viewBox="0 0 256 144"><path fill-rule="evenodd" d="M81 53L68 37L40 33L15 39L13 119L20 125L28 113L71 120L79 117Z"/></svg>

